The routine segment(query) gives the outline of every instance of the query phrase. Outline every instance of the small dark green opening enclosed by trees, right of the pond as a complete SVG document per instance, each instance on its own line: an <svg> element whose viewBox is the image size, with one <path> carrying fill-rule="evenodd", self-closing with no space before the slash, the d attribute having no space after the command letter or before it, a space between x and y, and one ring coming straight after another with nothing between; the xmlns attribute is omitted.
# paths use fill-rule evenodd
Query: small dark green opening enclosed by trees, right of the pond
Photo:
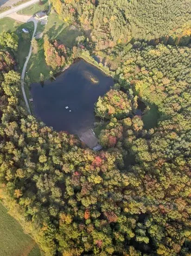
<svg viewBox="0 0 191 256"><path fill-rule="evenodd" d="M157 122L160 116L157 106L149 105L149 108L150 109L146 111L146 114L142 117L144 128L147 130L157 126Z"/></svg>

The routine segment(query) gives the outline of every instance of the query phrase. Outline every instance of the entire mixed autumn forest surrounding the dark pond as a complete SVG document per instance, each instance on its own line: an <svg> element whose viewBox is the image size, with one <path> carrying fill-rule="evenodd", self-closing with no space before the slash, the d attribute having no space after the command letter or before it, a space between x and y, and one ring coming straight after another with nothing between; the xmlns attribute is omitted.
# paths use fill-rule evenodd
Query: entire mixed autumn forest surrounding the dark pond
<svg viewBox="0 0 191 256"><path fill-rule="evenodd" d="M95 152L27 114L18 38L3 32L0 198L46 256L190 256L191 2L52 6L84 34L73 48L44 37L52 72L87 54L115 73L115 85L95 104L103 149ZM156 107L157 126L145 128L139 101L145 113Z"/></svg>

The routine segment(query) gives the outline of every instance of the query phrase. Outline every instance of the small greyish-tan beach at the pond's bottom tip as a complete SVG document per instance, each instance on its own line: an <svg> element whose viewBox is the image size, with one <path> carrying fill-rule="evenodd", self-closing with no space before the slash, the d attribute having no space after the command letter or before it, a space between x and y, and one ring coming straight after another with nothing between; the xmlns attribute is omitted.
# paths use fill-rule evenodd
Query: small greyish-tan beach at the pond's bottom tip
<svg viewBox="0 0 191 256"><path fill-rule="evenodd" d="M92 129L88 129L87 131L78 135L79 139L83 141L89 148L98 151L102 149L102 146L98 144L98 139Z"/></svg>

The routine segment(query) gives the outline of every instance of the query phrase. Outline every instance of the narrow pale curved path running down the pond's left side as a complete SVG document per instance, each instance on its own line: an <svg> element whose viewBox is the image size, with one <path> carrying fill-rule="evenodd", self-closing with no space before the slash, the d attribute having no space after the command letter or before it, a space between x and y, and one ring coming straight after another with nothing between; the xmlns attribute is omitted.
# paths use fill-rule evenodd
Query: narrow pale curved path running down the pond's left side
<svg viewBox="0 0 191 256"><path fill-rule="evenodd" d="M34 31L33 31L33 34L32 34L32 38L34 38L34 35L36 33L36 30L37 30L37 23L38 23L38 20L34 19L34 18L31 18L30 19L31 21L34 22ZM32 40L32 39L31 39ZM22 71L22 74L21 74L21 89L22 89L22 93L23 93L23 97L24 97L24 100L25 100L25 104L26 104L26 108L29 112L30 115L32 115L31 113L31 109L29 108L29 103L27 101L27 98L26 98L26 94L25 94L25 88L24 88L24 78L25 78L25 71L26 71L26 66L28 64L28 61L31 57L31 54L32 54L32 44L30 46L30 50L29 50L29 54L26 58L26 61L25 61L25 64L24 64L24 67L23 67L23 71Z"/></svg>

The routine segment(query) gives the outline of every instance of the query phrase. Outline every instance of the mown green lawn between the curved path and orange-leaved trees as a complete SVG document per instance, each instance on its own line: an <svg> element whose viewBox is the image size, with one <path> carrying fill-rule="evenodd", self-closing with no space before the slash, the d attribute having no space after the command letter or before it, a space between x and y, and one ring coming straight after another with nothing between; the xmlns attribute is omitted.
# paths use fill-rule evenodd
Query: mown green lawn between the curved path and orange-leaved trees
<svg viewBox="0 0 191 256"><path fill-rule="evenodd" d="M79 29L70 30L69 24L59 19L57 14L52 14L48 17L48 23L41 25L38 22L37 32L47 34L51 40L58 40L59 43L63 43L67 47L73 47L76 41L76 37L81 34ZM27 65L27 74L30 77L31 82L39 82L40 73L44 74L45 80L50 78L51 68L46 65L45 53L44 53L44 40L37 39L38 41L38 53L31 55L29 63Z"/></svg>

